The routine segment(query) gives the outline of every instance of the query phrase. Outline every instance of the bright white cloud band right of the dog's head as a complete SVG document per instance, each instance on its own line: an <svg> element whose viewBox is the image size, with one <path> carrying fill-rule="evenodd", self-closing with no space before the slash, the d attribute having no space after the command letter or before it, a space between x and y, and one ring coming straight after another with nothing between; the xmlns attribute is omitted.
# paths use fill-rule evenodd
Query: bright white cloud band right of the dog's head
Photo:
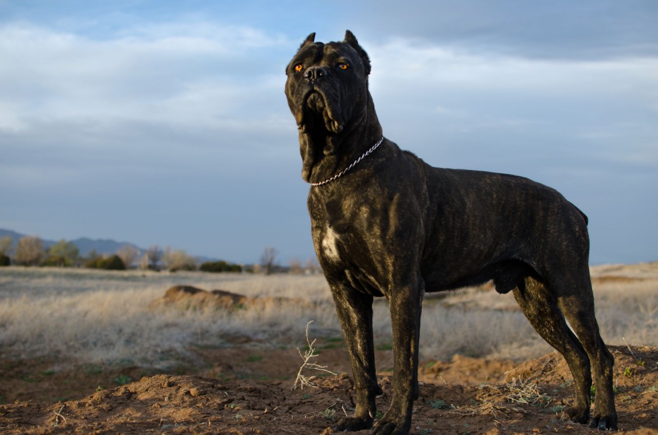
<svg viewBox="0 0 658 435"><path fill-rule="evenodd" d="M480 156L495 162L512 143L523 144L514 153L518 160L544 156L547 139L568 157L577 152L574 145L587 150L584 139L605 129L599 145L620 155L628 149L646 152L641 144L658 134L653 124L637 122L655 116L658 58L478 55L401 37L362 43L372 59L370 89L386 121L385 134L411 139L430 157L461 155L449 141L463 143L467 136L493 141L495 147L483 147ZM508 145L500 147L503 141ZM595 159L600 150L584 152Z"/></svg>

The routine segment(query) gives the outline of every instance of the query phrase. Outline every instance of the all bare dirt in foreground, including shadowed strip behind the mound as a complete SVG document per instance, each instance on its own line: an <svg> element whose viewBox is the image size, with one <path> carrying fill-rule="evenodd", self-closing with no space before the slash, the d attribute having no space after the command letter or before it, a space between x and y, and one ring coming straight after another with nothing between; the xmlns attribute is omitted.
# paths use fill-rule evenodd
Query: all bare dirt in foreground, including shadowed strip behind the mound
<svg viewBox="0 0 658 435"><path fill-rule="evenodd" d="M318 348L320 362L337 361L328 369L349 372L344 346L328 342ZM625 347L611 350L619 433L658 435L658 348L638 346L632 354ZM47 369L53 361L2 361L0 397L9 404L0 405L0 433L328 434L334 421L353 411L351 378L345 373L313 378L316 388L291 390L290 367L301 363L297 350L236 346L197 352L204 361L224 362L180 367L180 374L172 375L139 367L53 373ZM392 361L391 354L378 350L380 367ZM320 372L306 372L313 373ZM132 379L138 381L126 383ZM599 432L561 418L573 388L555 353L518 364L468 357L424 361L420 379L412 434ZM392 396L390 381L390 373L383 372L381 413ZM126 384L116 386L120 383Z"/></svg>

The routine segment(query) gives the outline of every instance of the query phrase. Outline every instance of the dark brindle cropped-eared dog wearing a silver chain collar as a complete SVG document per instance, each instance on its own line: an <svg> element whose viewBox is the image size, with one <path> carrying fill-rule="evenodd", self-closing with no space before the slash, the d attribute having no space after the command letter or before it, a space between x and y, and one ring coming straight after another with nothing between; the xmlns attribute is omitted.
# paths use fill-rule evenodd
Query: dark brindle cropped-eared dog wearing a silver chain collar
<svg viewBox="0 0 658 435"><path fill-rule="evenodd" d="M424 293L490 280L497 292L513 292L534 329L569 364L575 386L569 419L617 428L614 359L594 316L585 214L530 179L434 168L399 149L382 135L369 74L368 55L349 30L343 41L326 44L309 35L286 68L301 175L311 183L313 244L354 378L355 413L334 429L409 433ZM382 296L393 330L393 396L373 426L382 389L372 301Z"/></svg>

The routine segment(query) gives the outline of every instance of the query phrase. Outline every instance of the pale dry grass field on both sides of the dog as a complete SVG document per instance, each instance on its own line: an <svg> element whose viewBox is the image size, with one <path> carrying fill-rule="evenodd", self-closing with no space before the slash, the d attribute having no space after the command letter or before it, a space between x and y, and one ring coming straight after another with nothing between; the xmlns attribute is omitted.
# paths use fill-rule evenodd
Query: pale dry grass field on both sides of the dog
<svg viewBox="0 0 658 435"><path fill-rule="evenodd" d="M619 275L615 275L618 273ZM609 344L658 342L658 265L592 269L597 317ZM606 277L620 276L624 279ZM603 277L603 279L601 279ZM245 296L304 298L314 304L262 304L232 312L149 309L173 285ZM495 309L492 309L494 307ZM532 330L511 294L465 289L423 307L421 354L447 359L536 357L549 346ZM0 270L0 357L59 355L64 361L167 366L190 356L190 344L222 346L249 336L261 346L296 346L313 319L314 337L340 336L321 276L199 272L94 271L7 267ZM374 306L378 342L390 340L386 300Z"/></svg>

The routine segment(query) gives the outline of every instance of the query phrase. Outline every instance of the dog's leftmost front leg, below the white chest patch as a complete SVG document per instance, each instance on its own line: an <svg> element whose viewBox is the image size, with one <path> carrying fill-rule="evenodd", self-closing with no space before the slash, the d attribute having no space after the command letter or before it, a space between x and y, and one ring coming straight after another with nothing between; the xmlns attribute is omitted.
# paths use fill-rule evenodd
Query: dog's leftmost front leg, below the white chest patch
<svg viewBox="0 0 658 435"><path fill-rule="evenodd" d="M372 427L377 411L375 397L382 394L377 384L372 343L372 296L354 290L349 285L331 285L336 313L345 335L354 378L354 417L338 421L334 430L356 431Z"/></svg>

